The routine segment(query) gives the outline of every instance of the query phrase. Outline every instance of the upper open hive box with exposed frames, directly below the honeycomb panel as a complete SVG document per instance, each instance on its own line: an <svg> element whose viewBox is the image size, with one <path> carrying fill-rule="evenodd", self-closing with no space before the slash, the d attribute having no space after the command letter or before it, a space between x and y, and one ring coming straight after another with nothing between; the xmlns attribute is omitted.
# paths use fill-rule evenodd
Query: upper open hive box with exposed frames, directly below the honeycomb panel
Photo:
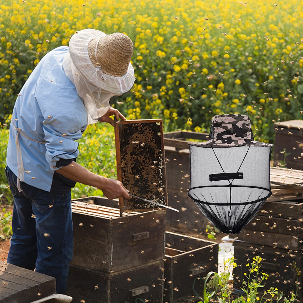
<svg viewBox="0 0 303 303"><path fill-rule="evenodd" d="M128 212L120 217L117 204L101 197L72 200L71 265L112 273L164 258L166 210Z"/></svg>

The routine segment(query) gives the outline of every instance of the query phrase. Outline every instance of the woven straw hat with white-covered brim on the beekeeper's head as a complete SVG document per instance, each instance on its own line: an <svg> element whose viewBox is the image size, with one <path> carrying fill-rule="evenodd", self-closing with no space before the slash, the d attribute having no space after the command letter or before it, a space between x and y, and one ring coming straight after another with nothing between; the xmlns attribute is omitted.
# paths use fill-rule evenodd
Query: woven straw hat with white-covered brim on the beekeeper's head
<svg viewBox="0 0 303 303"><path fill-rule="evenodd" d="M134 45L127 35L87 28L76 32L68 46L72 62L91 85L122 95L134 84Z"/></svg>

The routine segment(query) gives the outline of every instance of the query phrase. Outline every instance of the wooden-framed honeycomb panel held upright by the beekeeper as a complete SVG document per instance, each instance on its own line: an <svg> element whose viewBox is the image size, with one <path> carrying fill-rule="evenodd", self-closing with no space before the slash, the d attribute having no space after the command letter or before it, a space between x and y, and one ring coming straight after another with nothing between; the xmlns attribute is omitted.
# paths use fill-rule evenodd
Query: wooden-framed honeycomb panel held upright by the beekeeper
<svg viewBox="0 0 303 303"><path fill-rule="evenodd" d="M130 194L168 205L162 119L114 122L118 180ZM122 214L158 206L120 197L119 208Z"/></svg>

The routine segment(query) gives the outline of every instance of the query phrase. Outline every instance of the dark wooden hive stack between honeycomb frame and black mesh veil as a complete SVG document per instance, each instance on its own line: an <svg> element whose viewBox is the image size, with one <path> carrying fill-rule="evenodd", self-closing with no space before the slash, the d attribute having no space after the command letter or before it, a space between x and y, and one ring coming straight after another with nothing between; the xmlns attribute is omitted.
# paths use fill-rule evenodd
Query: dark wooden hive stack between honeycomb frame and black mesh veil
<svg viewBox="0 0 303 303"><path fill-rule="evenodd" d="M208 134L197 132L168 132L164 134L168 205L180 212L167 212L167 230L180 233L194 231L203 233L208 219L188 197L190 181L189 139L208 140Z"/></svg>

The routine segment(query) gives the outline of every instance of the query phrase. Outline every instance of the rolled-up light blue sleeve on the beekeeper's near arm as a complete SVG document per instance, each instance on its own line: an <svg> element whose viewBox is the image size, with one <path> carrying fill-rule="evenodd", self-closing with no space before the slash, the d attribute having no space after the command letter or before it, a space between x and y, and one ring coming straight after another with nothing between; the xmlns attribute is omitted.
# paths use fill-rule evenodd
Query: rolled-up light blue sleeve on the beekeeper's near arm
<svg viewBox="0 0 303 303"><path fill-rule="evenodd" d="M45 116L43 131L45 135L45 158L51 169L58 170L63 166L56 166L61 159L72 160L78 157L78 140L82 137L81 129L85 122L75 114L55 114Z"/></svg>

